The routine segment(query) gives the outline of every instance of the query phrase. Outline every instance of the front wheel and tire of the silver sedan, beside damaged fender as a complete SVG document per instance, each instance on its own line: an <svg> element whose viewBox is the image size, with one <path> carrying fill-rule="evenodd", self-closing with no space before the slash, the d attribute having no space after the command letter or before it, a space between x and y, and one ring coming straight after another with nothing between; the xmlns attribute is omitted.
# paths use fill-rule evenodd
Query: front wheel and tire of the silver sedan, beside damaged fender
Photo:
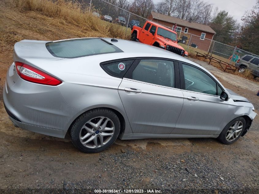
<svg viewBox="0 0 259 194"><path fill-rule="evenodd" d="M235 126L236 124L236 126ZM242 130L241 129L242 126ZM240 127L240 128L239 128ZM236 142L246 128L246 120L240 116L231 120L226 127L221 131L218 140L224 144L232 144ZM238 131L240 130L240 131ZM235 131L235 132L233 132ZM231 135L232 134L232 135Z"/></svg>

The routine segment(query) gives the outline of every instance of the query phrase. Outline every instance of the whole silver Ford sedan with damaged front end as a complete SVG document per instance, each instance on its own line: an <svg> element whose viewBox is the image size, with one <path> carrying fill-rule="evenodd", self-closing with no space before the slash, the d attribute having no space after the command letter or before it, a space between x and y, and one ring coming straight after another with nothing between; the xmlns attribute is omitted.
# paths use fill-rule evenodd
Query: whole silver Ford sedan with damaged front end
<svg viewBox="0 0 259 194"><path fill-rule="evenodd" d="M231 144L253 105L179 55L120 39L22 40L4 87L16 127L64 138L83 152L120 139L218 138Z"/></svg>

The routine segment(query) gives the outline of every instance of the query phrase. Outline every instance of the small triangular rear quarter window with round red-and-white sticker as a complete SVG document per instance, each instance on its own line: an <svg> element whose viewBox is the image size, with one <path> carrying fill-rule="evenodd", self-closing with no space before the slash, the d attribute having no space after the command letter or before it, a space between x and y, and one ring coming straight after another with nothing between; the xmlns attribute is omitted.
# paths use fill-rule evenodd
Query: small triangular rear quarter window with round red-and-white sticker
<svg viewBox="0 0 259 194"><path fill-rule="evenodd" d="M123 78L128 69L131 67L135 59L132 60L116 60L111 62L101 63L101 67L111 76Z"/></svg>

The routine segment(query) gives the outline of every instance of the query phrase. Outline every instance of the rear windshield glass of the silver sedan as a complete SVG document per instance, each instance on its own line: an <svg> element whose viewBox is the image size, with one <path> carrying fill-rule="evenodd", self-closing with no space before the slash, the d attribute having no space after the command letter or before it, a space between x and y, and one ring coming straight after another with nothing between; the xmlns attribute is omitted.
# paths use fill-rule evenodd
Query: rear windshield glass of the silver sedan
<svg viewBox="0 0 259 194"><path fill-rule="evenodd" d="M81 38L49 42L46 48L51 55L60 58L77 58L90 55L123 52L101 38Z"/></svg>

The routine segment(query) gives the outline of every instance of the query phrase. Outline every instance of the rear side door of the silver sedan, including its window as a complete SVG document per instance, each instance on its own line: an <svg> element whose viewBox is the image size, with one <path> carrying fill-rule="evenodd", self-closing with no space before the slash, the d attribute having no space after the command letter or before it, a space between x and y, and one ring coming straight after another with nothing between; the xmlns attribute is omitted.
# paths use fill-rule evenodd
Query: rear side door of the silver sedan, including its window
<svg viewBox="0 0 259 194"><path fill-rule="evenodd" d="M118 88L133 133L170 134L183 106L179 88L177 63L136 60Z"/></svg>

